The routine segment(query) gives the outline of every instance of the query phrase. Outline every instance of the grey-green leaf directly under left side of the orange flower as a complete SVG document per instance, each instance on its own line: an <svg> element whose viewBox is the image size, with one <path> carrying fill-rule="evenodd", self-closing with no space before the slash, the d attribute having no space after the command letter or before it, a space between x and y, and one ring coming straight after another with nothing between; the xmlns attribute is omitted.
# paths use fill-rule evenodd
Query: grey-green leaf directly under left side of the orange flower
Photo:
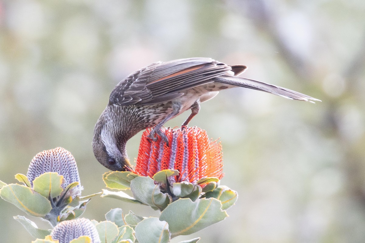
<svg viewBox="0 0 365 243"><path fill-rule="evenodd" d="M159 185L148 176L138 176L131 181L131 191L135 199L149 205L153 209L164 209L170 198L167 193L160 191Z"/></svg>

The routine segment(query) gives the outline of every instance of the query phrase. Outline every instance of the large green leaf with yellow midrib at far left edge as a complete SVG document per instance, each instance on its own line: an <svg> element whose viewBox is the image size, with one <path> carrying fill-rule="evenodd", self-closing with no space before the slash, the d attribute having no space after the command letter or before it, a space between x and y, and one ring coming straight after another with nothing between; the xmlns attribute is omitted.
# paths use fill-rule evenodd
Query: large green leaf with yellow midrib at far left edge
<svg viewBox="0 0 365 243"><path fill-rule="evenodd" d="M5 185L0 190L0 196L22 211L36 217L43 217L52 209L51 203L47 198L24 185Z"/></svg>

